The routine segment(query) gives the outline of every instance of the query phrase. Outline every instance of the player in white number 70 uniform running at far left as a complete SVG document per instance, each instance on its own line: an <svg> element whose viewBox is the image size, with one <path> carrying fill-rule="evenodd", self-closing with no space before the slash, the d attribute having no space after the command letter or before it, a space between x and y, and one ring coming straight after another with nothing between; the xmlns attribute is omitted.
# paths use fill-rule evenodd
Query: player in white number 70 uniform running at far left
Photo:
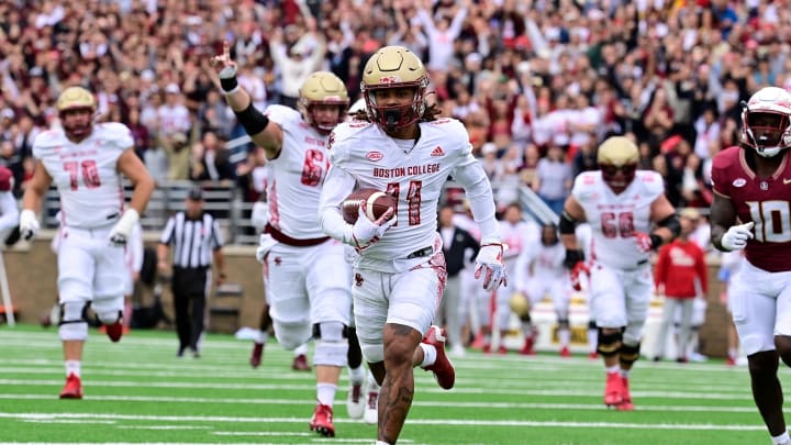
<svg viewBox="0 0 791 445"><path fill-rule="evenodd" d="M66 361L62 399L81 399L82 349L88 340L88 307L118 342L123 335L124 246L154 191L154 180L134 152L126 125L93 123L97 102L81 87L66 88L55 108L60 127L40 133L33 142L35 170L22 197L20 233L38 232L35 212L51 185L60 196L58 304ZM134 185L129 208L121 174Z"/></svg>

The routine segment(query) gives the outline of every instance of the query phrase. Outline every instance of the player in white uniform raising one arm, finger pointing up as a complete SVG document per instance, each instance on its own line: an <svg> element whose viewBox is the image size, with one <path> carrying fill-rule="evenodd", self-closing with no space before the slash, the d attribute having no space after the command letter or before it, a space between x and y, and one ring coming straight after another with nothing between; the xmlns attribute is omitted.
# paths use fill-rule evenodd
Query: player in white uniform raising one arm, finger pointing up
<svg viewBox="0 0 791 445"><path fill-rule="evenodd" d="M256 255L264 263L264 280L275 336L293 351L316 341L316 407L310 429L334 436L333 403L347 364L352 319L352 272L344 246L325 235L317 221L319 192L330 168L327 137L346 119L346 86L332 73L312 74L300 88L299 111L270 105L258 111L236 80L236 64L227 42L211 59L225 99L253 142L263 147L270 177L267 185L269 222ZM365 380L359 367L357 380ZM355 376L352 377L355 379ZM360 407L365 401L360 400ZM361 410L360 410L361 413Z"/></svg>

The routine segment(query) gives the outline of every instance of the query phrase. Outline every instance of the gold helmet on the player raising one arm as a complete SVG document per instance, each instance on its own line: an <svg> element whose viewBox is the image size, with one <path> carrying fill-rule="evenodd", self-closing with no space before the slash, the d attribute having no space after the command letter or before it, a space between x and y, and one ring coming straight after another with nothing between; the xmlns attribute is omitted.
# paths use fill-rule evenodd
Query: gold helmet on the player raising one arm
<svg viewBox="0 0 791 445"><path fill-rule="evenodd" d="M337 105L338 115L334 121L319 119L314 105ZM320 133L330 134L335 125L346 120L348 110L348 91L346 85L330 71L316 71L305 79L300 88L299 107L305 122Z"/></svg>

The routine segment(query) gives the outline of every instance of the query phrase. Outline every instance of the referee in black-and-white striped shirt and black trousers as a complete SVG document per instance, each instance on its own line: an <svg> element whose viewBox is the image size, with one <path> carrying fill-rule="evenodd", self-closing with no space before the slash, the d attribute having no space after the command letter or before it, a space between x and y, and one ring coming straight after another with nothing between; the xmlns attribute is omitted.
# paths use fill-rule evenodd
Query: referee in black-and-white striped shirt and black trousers
<svg viewBox="0 0 791 445"><path fill-rule="evenodd" d="M211 288L212 259L216 266L216 285L225 279L223 240L218 222L203 211L203 192L193 188L187 194L183 211L170 216L157 246L157 268L167 275L172 246L172 288L178 356L187 348L200 357L198 343L203 333L207 293Z"/></svg>

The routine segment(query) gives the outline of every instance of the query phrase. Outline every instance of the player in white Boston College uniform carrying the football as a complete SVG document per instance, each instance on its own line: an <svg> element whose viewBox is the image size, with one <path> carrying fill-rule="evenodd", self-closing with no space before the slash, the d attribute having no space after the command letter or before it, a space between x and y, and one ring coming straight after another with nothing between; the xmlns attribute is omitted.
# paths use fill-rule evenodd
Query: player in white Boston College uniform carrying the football
<svg viewBox="0 0 791 445"><path fill-rule="evenodd" d="M412 368L450 389L455 370L432 320L446 279L436 213L448 176L461 183L481 230L477 276L492 291L505 283L503 245L489 180L464 125L437 119L425 102L423 63L403 46L377 51L363 70L366 111L330 137L332 167L321 192L324 232L350 245L354 312L363 355L381 385L377 444L399 438L414 394ZM355 188L390 193L396 205L377 221L360 208L355 224L341 204Z"/></svg>

